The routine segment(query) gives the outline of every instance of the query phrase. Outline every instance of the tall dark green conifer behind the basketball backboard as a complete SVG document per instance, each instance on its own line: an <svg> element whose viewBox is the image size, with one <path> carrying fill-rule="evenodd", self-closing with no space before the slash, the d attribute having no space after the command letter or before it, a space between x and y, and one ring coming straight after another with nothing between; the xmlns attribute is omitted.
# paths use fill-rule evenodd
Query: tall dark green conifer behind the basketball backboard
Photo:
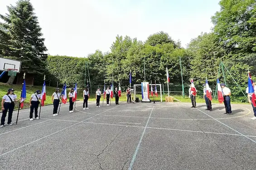
<svg viewBox="0 0 256 170"><path fill-rule="evenodd" d="M43 74L47 48L32 4L29 0L19 0L16 6L7 9L9 14L0 14L5 21L0 23L0 56L20 60L22 72ZM12 84L14 78L11 76L7 83Z"/></svg>

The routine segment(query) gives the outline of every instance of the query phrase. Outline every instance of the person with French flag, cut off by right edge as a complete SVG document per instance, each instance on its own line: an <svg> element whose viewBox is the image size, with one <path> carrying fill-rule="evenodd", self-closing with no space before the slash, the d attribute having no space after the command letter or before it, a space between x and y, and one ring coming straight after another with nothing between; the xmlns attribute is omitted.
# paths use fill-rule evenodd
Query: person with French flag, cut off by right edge
<svg viewBox="0 0 256 170"><path fill-rule="evenodd" d="M252 117L251 119L256 120L256 85L255 85L255 81L253 81L251 79L251 74L250 72L248 72L248 87L246 87L246 93L248 96L248 102L251 103L252 109L253 109L253 113L254 113L254 117Z"/></svg>

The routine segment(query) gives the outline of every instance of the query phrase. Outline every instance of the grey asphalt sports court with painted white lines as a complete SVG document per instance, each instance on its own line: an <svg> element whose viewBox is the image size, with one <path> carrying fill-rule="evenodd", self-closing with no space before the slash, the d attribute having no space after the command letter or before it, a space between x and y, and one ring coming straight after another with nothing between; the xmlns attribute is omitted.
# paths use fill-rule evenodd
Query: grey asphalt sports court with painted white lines
<svg viewBox="0 0 256 170"><path fill-rule="evenodd" d="M213 111L199 103L89 103L60 115L44 106L39 120L20 110L0 129L0 165L24 170L255 170L256 121L250 105ZM14 111L13 122L17 111ZM1 115L1 114L0 114Z"/></svg>

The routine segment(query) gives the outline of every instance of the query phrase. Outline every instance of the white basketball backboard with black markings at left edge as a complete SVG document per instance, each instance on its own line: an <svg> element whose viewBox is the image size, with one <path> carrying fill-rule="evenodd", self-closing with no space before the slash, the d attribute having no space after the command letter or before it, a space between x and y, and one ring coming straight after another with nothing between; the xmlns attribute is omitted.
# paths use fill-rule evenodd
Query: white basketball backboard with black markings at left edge
<svg viewBox="0 0 256 170"><path fill-rule="evenodd" d="M8 69L17 69L20 72L21 61L0 58L0 71L8 71Z"/></svg>

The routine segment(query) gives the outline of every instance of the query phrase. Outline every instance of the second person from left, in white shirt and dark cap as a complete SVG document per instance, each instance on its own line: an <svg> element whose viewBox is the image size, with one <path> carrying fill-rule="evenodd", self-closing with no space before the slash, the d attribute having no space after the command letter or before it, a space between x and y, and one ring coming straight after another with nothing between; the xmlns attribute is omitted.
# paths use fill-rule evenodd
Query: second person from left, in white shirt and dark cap
<svg viewBox="0 0 256 170"><path fill-rule="evenodd" d="M29 114L29 120L33 120L33 112L35 112L35 119L39 119L37 113L38 113L38 105L40 104L40 90L37 90L34 94L31 95L29 100L29 106L30 106L30 114Z"/></svg>

